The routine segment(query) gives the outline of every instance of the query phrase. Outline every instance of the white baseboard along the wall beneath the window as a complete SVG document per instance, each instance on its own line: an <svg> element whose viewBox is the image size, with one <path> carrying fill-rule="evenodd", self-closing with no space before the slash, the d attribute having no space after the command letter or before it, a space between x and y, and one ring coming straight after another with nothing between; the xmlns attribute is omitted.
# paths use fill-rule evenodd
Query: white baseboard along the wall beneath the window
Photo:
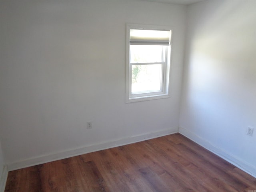
<svg viewBox="0 0 256 192"><path fill-rule="evenodd" d="M167 130L159 130L156 132L149 132L146 134L140 134L140 135L131 136L131 137L120 138L118 140L92 144L92 145L84 146L82 148L69 149L69 150L57 152L54 154L37 156L34 158L21 160L19 162L9 163L7 168L8 168L8 171L17 170L20 168L30 167L30 166L39 165L42 163L47 163L47 162L60 160L64 158L69 158L69 157L86 154L94 151L104 150L112 147L135 143L135 142L140 142L140 141L157 138L160 136L165 136L165 135L169 135L177 132L178 132L178 127L170 128Z"/></svg>

